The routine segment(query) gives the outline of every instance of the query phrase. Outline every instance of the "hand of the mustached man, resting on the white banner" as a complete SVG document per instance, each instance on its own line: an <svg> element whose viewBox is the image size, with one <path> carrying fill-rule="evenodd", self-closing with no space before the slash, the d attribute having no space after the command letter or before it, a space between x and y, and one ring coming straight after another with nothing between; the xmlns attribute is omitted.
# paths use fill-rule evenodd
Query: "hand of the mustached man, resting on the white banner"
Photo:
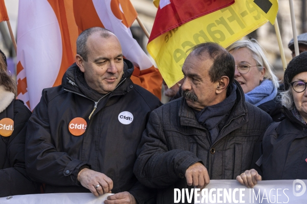
<svg viewBox="0 0 307 204"><path fill-rule="evenodd" d="M196 186L197 188L203 189L210 183L208 171L206 167L198 162L191 165L185 173L188 186Z"/></svg>

